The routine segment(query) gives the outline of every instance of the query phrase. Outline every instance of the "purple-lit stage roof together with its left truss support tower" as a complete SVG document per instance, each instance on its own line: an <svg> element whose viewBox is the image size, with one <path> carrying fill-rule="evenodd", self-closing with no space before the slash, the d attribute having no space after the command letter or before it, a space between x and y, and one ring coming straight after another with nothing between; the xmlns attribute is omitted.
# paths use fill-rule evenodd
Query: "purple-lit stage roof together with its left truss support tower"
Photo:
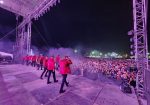
<svg viewBox="0 0 150 105"><path fill-rule="evenodd" d="M30 54L32 19L37 20L59 2L59 0L0 0L1 8L16 14L17 23L18 17L23 17L16 28L16 45L14 46L16 59Z"/></svg>

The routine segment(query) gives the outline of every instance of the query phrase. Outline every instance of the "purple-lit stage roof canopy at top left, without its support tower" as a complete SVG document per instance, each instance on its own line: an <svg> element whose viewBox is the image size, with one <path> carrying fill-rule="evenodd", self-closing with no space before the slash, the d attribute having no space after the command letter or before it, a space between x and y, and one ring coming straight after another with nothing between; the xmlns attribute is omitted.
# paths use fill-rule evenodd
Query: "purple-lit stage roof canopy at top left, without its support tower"
<svg viewBox="0 0 150 105"><path fill-rule="evenodd" d="M0 0L0 7L8 11L11 11L15 14L26 17L28 15L35 14L35 11L36 11L35 15L41 15L50 6L56 4L56 1L57 0ZM47 5L50 2L51 4ZM43 11L39 10L40 11L39 12L37 11L37 9L39 8L45 9L43 9Z"/></svg>

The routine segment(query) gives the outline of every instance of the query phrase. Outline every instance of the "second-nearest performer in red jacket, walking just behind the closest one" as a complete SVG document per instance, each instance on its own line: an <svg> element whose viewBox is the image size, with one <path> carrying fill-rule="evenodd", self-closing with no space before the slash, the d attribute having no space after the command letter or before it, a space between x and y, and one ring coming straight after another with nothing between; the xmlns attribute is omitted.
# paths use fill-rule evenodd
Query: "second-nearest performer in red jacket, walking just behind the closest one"
<svg viewBox="0 0 150 105"><path fill-rule="evenodd" d="M50 82L51 73L53 73L54 82L58 82L58 80L56 80L56 76L55 76L55 61L54 61L54 57L53 56L51 56L49 58L49 60L48 60L47 69L48 69L47 84L51 83Z"/></svg>

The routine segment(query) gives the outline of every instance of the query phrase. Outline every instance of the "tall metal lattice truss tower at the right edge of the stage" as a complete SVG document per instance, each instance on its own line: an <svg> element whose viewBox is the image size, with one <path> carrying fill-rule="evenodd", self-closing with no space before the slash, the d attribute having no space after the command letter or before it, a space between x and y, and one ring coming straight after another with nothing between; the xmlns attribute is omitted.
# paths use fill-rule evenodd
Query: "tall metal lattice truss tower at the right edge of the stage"
<svg viewBox="0 0 150 105"><path fill-rule="evenodd" d="M148 70L147 2L133 0L135 61L138 68L136 88L144 96L145 71Z"/></svg>

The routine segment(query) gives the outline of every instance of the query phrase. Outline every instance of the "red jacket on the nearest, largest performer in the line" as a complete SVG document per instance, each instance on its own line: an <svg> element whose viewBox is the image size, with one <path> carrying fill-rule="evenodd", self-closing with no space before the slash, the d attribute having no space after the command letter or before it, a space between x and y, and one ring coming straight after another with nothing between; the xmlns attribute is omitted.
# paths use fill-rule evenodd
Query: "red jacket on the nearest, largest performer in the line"
<svg viewBox="0 0 150 105"><path fill-rule="evenodd" d="M62 59L59 62L59 65L60 65L60 74L71 74L70 64L72 64L71 60Z"/></svg>

